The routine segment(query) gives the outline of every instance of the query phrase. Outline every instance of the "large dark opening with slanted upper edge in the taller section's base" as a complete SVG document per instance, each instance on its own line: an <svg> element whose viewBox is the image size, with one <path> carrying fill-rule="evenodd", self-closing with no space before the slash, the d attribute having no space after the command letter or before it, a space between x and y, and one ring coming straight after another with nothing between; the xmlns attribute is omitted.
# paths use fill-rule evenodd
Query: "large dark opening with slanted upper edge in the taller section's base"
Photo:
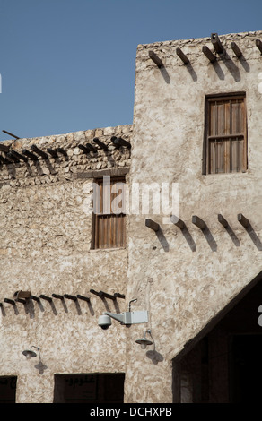
<svg viewBox="0 0 262 421"><path fill-rule="evenodd" d="M261 400L262 281L224 313L213 329L173 361L173 400L248 403ZM193 342L192 342L193 343Z"/></svg>

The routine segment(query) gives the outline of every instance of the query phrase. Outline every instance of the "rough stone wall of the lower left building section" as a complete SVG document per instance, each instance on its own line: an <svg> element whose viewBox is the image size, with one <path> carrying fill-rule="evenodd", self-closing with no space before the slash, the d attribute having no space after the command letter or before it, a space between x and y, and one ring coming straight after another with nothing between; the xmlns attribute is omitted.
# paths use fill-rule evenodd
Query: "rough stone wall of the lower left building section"
<svg viewBox="0 0 262 421"><path fill-rule="evenodd" d="M0 374L18 376L17 402L52 402L56 373L125 371L126 331L117 322L109 331L97 324L106 310L124 311L125 299L102 300L90 289L126 294L127 250L91 250L90 206L93 177L128 170L130 150L117 150L110 137L129 141L131 132L127 125L16 141L12 149L20 153L31 144L44 151L61 146L67 158L59 154L0 168ZM95 136L109 151L84 154L78 145ZM4 302L18 290L37 297L79 294L90 303L54 297L50 303ZM38 358L22 356L31 345L40 348L42 367Z"/></svg>

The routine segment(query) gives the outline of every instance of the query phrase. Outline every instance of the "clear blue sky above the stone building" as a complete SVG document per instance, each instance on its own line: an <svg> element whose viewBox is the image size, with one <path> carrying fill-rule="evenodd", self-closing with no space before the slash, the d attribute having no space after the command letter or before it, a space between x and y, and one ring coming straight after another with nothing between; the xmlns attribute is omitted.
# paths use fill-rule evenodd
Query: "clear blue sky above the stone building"
<svg viewBox="0 0 262 421"><path fill-rule="evenodd" d="M133 122L138 44L262 30L262 0L0 0L0 141Z"/></svg>

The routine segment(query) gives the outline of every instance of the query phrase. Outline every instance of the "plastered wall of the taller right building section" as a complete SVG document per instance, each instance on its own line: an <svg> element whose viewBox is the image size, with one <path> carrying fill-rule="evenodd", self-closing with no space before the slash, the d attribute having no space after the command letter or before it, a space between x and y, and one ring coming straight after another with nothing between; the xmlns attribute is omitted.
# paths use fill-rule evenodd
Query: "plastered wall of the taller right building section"
<svg viewBox="0 0 262 421"><path fill-rule="evenodd" d="M214 51L210 39L137 48L130 183L179 183L178 216L188 231L163 224L161 214L150 216L162 228L156 235L144 225L148 215L130 216L127 297L139 297L135 306L149 310L155 348L137 351L138 328L129 330L129 402L170 402L172 358L261 271L262 56L255 44L261 38L262 32L221 36L224 53L214 64L202 53L204 45ZM231 41L240 47L240 59ZM188 56L187 66L177 47ZM162 59L162 68L153 63L150 50ZM237 91L247 97L249 169L204 176L205 95ZM231 230L218 222L218 213ZM240 225L238 213L249 219L252 230ZM193 215L205 220L205 235L192 224Z"/></svg>

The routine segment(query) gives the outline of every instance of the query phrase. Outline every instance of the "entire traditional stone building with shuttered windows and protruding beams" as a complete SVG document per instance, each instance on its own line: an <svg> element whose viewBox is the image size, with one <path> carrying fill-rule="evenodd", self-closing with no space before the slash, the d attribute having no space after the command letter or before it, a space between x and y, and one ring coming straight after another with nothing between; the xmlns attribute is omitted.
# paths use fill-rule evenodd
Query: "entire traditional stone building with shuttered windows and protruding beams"
<svg viewBox="0 0 262 421"><path fill-rule="evenodd" d="M0 144L1 401L258 398L261 40L140 45L133 125ZM115 180L179 185L179 214L103 214Z"/></svg>

